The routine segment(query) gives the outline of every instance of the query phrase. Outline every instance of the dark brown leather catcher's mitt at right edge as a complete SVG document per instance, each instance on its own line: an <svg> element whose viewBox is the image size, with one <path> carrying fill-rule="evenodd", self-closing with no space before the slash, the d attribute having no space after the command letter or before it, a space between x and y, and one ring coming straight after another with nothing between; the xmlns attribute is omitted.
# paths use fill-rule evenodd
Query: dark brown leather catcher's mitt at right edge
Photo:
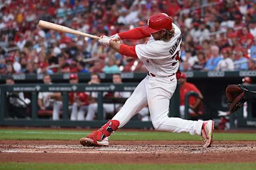
<svg viewBox="0 0 256 170"><path fill-rule="evenodd" d="M226 96L228 99L228 107L230 112L236 112L243 104L246 99L244 99L245 88L243 85L231 84L226 88Z"/></svg>

